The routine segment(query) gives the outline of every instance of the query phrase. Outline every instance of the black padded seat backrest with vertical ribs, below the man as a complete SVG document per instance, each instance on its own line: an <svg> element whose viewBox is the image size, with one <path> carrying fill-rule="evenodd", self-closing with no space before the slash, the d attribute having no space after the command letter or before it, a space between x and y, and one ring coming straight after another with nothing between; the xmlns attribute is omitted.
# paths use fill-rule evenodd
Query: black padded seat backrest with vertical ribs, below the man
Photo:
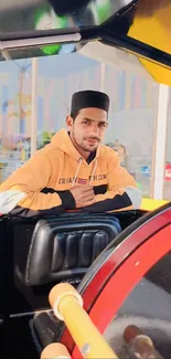
<svg viewBox="0 0 171 359"><path fill-rule="evenodd" d="M25 265L18 263L18 275L28 286L79 281L120 231L118 219L110 214L40 220L32 234Z"/></svg>

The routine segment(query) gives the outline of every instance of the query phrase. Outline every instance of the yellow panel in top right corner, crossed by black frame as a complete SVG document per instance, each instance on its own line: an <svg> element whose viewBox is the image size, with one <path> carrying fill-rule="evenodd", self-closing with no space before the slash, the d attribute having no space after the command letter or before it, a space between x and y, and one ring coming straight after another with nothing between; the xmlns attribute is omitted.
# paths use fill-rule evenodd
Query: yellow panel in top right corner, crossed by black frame
<svg viewBox="0 0 171 359"><path fill-rule="evenodd" d="M150 15L150 3L153 10ZM162 3L162 1L160 1ZM163 1L161 7L158 1L140 1L140 8L129 29L128 36L139 40L161 51L171 53L171 3ZM145 8L145 9L143 9ZM145 11L143 11L145 10ZM154 81L171 86L171 71L149 60L139 59Z"/></svg>

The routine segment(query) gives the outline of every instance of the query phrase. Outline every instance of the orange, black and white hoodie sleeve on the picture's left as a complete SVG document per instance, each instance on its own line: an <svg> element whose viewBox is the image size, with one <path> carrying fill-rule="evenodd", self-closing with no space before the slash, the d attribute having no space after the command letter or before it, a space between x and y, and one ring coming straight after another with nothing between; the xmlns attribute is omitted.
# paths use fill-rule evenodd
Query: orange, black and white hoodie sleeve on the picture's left
<svg viewBox="0 0 171 359"><path fill-rule="evenodd" d="M56 214L74 205L70 191L45 193L52 165L42 150L0 186L0 213L22 217Z"/></svg>

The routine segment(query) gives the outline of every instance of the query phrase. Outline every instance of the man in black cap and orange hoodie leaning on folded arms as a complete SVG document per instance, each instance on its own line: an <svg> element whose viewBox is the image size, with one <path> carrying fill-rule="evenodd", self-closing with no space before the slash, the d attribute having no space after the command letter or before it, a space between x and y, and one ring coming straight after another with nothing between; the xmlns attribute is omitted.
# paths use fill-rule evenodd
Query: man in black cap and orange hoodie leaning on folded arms
<svg viewBox="0 0 171 359"><path fill-rule="evenodd" d="M135 180L117 154L100 145L108 108L104 93L75 93L67 130L56 133L0 186L0 212L31 217L138 209L141 196Z"/></svg>

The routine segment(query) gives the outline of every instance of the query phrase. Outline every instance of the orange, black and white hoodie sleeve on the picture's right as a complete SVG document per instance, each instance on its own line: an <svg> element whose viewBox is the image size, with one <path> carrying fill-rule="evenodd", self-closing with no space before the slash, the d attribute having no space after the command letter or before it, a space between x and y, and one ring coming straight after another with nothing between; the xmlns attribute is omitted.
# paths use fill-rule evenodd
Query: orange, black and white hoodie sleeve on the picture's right
<svg viewBox="0 0 171 359"><path fill-rule="evenodd" d="M104 194L95 197L95 203L84 208L88 212L107 212L139 209L141 191L128 171L120 166L118 155L109 150L107 160L107 186Z"/></svg>

